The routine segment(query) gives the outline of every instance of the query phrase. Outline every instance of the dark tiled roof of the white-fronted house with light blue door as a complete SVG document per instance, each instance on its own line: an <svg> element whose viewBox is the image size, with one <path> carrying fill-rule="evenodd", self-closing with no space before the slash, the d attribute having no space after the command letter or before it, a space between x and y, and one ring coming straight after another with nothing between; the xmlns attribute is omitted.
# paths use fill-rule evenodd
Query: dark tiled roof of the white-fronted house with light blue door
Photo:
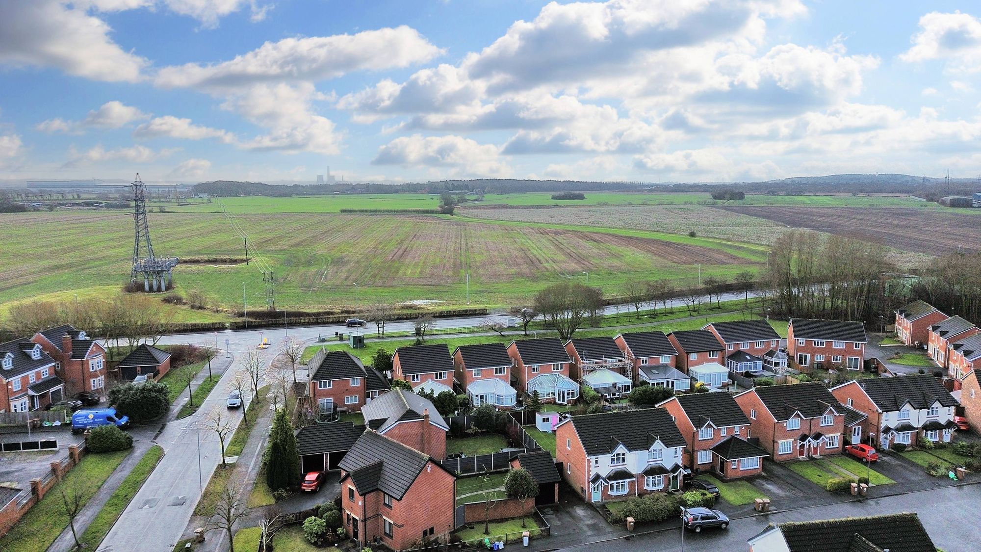
<svg viewBox="0 0 981 552"><path fill-rule="evenodd" d="M569 418L587 456L609 454L619 445L629 451L645 451L660 439L668 447L684 447L685 438L664 409L585 414Z"/></svg>

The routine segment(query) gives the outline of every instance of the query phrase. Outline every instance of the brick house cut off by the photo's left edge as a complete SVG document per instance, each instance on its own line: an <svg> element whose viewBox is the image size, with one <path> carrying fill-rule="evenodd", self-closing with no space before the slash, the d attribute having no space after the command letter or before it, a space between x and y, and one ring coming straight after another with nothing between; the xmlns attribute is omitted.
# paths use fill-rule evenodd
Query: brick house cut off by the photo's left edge
<svg viewBox="0 0 981 552"><path fill-rule="evenodd" d="M0 343L0 412L26 413L64 399L58 362L26 337Z"/></svg>

